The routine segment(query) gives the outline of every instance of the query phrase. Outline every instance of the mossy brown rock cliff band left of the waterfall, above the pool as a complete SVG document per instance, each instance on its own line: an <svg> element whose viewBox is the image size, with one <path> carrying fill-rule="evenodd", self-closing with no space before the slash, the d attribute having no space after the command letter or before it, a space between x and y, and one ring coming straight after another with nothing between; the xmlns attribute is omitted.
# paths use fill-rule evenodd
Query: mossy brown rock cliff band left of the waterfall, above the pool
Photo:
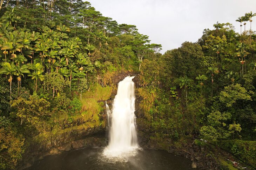
<svg viewBox="0 0 256 170"><path fill-rule="evenodd" d="M105 129L101 126L89 127L81 122L78 126L66 128L58 134L36 136L38 141L29 142L18 169L30 167L36 160L62 151L78 149L85 146L106 146ZM43 139L42 139L43 138Z"/></svg>

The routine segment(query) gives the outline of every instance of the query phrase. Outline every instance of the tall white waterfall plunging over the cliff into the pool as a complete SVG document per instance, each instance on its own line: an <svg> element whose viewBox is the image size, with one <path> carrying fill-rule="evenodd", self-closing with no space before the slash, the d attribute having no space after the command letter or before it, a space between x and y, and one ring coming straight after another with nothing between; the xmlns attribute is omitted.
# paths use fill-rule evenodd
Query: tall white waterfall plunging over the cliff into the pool
<svg viewBox="0 0 256 170"><path fill-rule="evenodd" d="M110 111L106 103L109 131L109 144L104 150L104 155L110 157L124 157L136 153L138 148L136 133L135 76L125 77L120 81L117 94Z"/></svg>

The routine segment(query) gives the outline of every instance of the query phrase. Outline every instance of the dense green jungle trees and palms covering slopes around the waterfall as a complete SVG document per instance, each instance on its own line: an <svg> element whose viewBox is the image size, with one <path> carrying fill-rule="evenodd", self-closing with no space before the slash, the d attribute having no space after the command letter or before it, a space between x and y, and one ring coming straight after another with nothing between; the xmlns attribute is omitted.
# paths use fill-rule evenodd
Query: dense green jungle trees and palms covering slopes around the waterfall
<svg viewBox="0 0 256 170"><path fill-rule="evenodd" d="M139 73L151 140L198 135L256 166L256 36L245 28L255 15L236 20L240 33L217 22L162 55L135 25L89 2L2 0L0 169L15 169L33 142L105 127L102 101L121 72Z"/></svg>

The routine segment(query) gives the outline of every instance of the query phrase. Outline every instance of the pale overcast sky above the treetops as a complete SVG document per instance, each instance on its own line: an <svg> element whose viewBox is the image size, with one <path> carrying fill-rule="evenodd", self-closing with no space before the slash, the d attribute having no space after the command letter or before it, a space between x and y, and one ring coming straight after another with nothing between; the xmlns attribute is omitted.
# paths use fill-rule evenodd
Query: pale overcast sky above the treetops
<svg viewBox="0 0 256 170"><path fill-rule="evenodd" d="M256 13L256 0L88 0L103 16L119 24L136 25L150 43L162 44L163 50L175 49L185 41L196 42L205 28L232 23L240 32L238 17ZM256 30L256 16L252 18ZM250 23L246 24L249 29ZM244 27L242 27L242 30Z"/></svg>

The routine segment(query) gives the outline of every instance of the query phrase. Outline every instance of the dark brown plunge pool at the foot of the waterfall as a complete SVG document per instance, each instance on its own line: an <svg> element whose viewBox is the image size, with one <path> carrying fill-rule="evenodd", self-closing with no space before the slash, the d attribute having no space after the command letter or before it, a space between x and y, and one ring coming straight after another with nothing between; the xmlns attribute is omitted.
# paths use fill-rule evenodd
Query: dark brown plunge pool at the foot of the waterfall
<svg viewBox="0 0 256 170"><path fill-rule="evenodd" d="M190 170L191 162L163 150L140 149L115 162L103 156L104 148L86 147L46 156L26 170Z"/></svg>

